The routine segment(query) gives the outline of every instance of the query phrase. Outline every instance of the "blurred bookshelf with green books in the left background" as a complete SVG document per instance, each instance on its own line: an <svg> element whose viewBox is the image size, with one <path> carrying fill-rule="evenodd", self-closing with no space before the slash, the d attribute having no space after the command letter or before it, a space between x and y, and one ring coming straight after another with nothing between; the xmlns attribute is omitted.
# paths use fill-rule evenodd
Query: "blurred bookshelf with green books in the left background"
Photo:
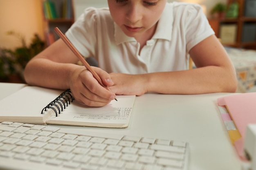
<svg viewBox="0 0 256 170"><path fill-rule="evenodd" d="M58 39L54 32L57 26L65 33L74 23L73 0L41 0L43 11L43 30L47 46Z"/></svg>

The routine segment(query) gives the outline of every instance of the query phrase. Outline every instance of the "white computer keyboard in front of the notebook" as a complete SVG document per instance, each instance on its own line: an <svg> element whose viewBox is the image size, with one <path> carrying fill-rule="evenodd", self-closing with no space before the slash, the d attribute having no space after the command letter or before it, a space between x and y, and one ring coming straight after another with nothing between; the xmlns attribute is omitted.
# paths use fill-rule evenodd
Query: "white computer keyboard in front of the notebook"
<svg viewBox="0 0 256 170"><path fill-rule="evenodd" d="M187 170L186 142L0 123L0 169Z"/></svg>

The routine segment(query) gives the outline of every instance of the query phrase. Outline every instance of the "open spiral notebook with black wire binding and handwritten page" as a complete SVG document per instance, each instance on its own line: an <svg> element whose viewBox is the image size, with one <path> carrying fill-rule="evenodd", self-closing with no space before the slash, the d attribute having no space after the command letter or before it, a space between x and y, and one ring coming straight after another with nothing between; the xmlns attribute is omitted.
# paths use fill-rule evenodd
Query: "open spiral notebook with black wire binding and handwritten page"
<svg viewBox="0 0 256 170"><path fill-rule="evenodd" d="M126 128L135 95L117 95L103 107L77 102L71 91L26 86L0 100L0 122Z"/></svg>

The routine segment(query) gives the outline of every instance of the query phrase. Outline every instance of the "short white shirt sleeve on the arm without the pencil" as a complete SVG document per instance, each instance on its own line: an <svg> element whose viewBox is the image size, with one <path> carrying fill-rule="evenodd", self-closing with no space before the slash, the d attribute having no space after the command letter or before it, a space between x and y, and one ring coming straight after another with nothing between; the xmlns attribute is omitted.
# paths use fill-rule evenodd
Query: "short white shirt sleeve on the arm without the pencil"
<svg viewBox="0 0 256 170"><path fill-rule="evenodd" d="M184 31L186 32L186 50L190 51L193 46L215 33L200 5L188 5L184 11L182 25L184 25Z"/></svg>

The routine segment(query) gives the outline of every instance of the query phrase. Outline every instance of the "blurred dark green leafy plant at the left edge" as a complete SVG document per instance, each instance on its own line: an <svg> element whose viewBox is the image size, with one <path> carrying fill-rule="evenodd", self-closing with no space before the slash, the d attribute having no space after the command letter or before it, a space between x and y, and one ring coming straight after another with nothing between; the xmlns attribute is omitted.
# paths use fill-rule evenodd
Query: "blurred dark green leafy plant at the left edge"
<svg viewBox="0 0 256 170"><path fill-rule="evenodd" d="M16 49L0 49L0 79L8 82L11 76L20 77L20 82L25 82L23 71L32 57L45 49L45 42L34 34L29 46L25 43L25 37L14 32L8 31L7 35L14 35L21 41L21 46ZM18 75L18 76L17 76Z"/></svg>

